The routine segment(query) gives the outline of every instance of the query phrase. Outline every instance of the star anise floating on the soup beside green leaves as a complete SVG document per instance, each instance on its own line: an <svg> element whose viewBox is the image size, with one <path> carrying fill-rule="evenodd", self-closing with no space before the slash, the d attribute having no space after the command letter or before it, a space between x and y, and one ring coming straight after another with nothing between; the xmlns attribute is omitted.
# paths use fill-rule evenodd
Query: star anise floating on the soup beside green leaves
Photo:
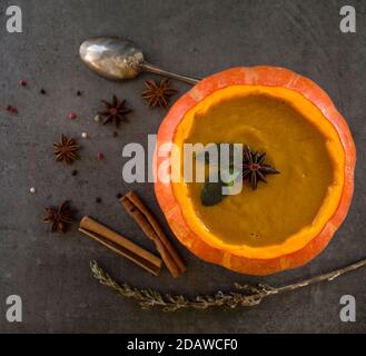
<svg viewBox="0 0 366 356"><path fill-rule="evenodd" d="M253 152L248 146L244 148L243 179L250 181L251 189L257 189L258 181L267 182L267 175L278 175L279 171L266 165L266 152Z"/></svg>

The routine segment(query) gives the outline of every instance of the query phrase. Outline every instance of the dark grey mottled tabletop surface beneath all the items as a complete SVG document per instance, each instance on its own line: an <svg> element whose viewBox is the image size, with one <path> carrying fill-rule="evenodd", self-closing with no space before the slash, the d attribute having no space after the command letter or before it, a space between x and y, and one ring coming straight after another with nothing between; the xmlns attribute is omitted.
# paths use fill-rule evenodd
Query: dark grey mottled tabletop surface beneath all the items
<svg viewBox="0 0 366 356"><path fill-rule="evenodd" d="M23 33L6 32L4 10L17 2L23 11ZM339 9L354 4L357 33L339 32ZM158 278L106 250L77 231L51 235L39 222L46 206L71 199L79 216L88 214L151 248L133 221L121 210L116 194L131 188L157 214L152 185L123 184L122 146L146 146L162 110L149 110L140 98L144 80L108 82L79 60L82 40L98 34L133 39L157 65L187 75L206 76L233 66L275 65L313 78L346 117L358 148L356 194L346 222L329 247L307 266L267 278L240 276L205 264L180 247L188 273L174 280L165 269ZM229 290L234 281L283 285L366 257L364 230L366 174L366 4L365 1L152 1L152 0L18 0L0 2L0 332L60 333L257 333L366 332L366 270L288 295L268 298L253 309L164 314L144 312L119 299L91 278L90 259L117 279L136 286L187 295ZM28 88L20 88L20 79ZM174 82L181 92L189 87ZM40 96L40 88L48 91ZM82 90L82 97L76 91ZM93 120L99 100L112 93L133 108L130 123L118 138L111 127ZM3 108L19 108L17 117ZM79 117L68 119L69 111ZM89 140L72 168L56 164L52 142L61 132ZM96 159L97 152L106 156ZM71 170L78 169L77 177ZM29 188L37 188L36 195ZM95 202L96 197L102 204ZM178 244L176 244L178 245ZM19 294L23 323L4 319L6 297ZM339 320L339 298L357 299L357 322Z"/></svg>

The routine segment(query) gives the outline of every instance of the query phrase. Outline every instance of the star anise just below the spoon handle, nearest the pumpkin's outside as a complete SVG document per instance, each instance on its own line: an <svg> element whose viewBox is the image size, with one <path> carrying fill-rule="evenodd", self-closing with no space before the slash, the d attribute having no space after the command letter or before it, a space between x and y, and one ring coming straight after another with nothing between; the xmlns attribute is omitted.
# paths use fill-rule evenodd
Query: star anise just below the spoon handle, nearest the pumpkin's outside
<svg viewBox="0 0 366 356"><path fill-rule="evenodd" d="M162 79L160 82L147 80L145 85L147 89L142 91L142 98L148 101L149 108L167 108L169 98L178 92L169 87L169 79Z"/></svg>

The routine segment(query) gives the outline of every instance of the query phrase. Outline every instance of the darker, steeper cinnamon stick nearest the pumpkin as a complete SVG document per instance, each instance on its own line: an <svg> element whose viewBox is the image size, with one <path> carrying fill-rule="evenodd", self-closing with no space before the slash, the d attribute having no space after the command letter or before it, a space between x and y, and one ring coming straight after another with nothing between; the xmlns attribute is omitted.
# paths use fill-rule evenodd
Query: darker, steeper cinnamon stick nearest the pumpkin
<svg viewBox="0 0 366 356"><path fill-rule="evenodd" d="M144 205L140 198L133 191L130 191L120 198L120 202L126 211L140 226L142 231L154 240L157 250L171 275L176 278L182 274L187 269L186 265L162 231L159 222Z"/></svg>

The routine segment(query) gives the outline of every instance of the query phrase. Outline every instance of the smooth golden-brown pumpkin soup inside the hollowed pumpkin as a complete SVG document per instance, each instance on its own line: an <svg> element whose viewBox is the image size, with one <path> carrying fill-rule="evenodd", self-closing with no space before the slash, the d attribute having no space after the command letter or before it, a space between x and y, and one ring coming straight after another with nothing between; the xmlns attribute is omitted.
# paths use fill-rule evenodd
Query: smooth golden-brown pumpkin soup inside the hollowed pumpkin
<svg viewBox="0 0 366 356"><path fill-rule="evenodd" d="M278 244L311 225L328 187L334 184L326 137L288 102L265 95L236 96L197 112L186 144L236 142L267 152L280 175L257 190L241 192L206 207L202 182L188 185L201 224L234 245Z"/></svg>

